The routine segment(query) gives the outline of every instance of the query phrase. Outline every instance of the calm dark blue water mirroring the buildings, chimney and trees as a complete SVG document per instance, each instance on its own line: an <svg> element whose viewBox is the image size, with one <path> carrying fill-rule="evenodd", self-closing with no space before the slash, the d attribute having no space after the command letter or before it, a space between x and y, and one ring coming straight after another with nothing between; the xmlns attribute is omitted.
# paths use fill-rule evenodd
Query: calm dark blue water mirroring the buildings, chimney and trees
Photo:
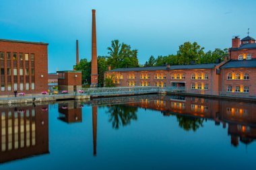
<svg viewBox="0 0 256 170"><path fill-rule="evenodd" d="M0 110L0 169L256 169L254 103L150 95Z"/></svg>

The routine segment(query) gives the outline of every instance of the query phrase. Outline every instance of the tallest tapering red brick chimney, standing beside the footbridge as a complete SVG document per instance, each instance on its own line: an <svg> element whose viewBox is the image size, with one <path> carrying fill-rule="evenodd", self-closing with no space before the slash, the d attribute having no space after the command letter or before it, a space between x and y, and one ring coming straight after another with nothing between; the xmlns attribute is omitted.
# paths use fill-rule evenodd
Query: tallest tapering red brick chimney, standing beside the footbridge
<svg viewBox="0 0 256 170"><path fill-rule="evenodd" d="M92 9L92 75L91 87L98 85L98 65L97 65L97 42L96 42L96 17L95 9Z"/></svg>

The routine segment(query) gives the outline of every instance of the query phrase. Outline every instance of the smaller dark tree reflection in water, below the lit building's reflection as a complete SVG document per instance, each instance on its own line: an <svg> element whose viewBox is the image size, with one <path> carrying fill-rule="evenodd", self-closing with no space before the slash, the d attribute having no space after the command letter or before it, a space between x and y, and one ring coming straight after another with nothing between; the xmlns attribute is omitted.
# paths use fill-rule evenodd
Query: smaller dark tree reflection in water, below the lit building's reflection
<svg viewBox="0 0 256 170"><path fill-rule="evenodd" d="M193 130L195 132L198 128L203 127L203 118L194 118L182 115L177 115L176 117L179 122L179 126L186 131Z"/></svg>

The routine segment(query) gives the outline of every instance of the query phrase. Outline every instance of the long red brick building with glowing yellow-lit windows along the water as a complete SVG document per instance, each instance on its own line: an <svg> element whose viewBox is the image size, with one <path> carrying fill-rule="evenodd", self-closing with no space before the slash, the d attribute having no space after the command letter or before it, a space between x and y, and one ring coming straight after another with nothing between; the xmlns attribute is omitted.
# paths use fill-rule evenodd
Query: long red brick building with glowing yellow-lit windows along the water
<svg viewBox="0 0 256 170"><path fill-rule="evenodd" d="M256 43L249 36L232 39L230 60L202 65L167 65L115 69L104 73L117 87L179 87L190 93L256 95Z"/></svg>

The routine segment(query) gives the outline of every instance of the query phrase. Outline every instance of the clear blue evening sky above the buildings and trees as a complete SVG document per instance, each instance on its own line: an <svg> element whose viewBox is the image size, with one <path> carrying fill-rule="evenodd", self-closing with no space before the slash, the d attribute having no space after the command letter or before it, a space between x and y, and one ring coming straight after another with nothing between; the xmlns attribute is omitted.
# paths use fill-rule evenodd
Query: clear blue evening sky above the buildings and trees
<svg viewBox="0 0 256 170"><path fill-rule="evenodd" d="M71 70L75 40L80 58L91 58L92 9L96 9L98 55L111 40L150 55L176 54L184 42L205 50L228 48L234 35L256 38L256 1L236 0L1 0L0 39L49 43L49 72Z"/></svg>

